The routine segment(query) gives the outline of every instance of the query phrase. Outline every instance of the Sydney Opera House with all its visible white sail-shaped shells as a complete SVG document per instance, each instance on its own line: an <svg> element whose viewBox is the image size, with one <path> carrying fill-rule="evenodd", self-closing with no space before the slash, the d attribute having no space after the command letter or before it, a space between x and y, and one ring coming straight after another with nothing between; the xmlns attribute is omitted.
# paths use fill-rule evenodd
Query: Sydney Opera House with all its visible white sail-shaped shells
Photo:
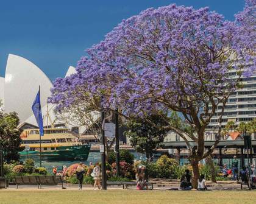
<svg viewBox="0 0 256 204"><path fill-rule="evenodd" d="M66 76L70 76L75 71L73 66L69 66ZM0 77L0 100L6 113L11 111L18 113L20 128L37 127L31 106L39 86L44 126L48 125L46 123L47 113L55 124L61 125L63 122L55 119L53 105L47 104L47 98L51 94L51 80L38 66L26 58L9 54L5 76Z"/></svg>

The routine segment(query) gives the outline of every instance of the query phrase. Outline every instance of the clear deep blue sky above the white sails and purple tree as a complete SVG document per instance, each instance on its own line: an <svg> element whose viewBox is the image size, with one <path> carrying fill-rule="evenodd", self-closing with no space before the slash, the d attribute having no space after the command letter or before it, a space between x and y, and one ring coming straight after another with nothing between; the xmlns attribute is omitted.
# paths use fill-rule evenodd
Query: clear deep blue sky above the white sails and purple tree
<svg viewBox="0 0 256 204"><path fill-rule="evenodd" d="M0 2L0 76L9 53L27 58L49 79L63 77L84 50L104 39L122 19L149 7L210 7L226 19L243 10L243 0L13 0Z"/></svg>

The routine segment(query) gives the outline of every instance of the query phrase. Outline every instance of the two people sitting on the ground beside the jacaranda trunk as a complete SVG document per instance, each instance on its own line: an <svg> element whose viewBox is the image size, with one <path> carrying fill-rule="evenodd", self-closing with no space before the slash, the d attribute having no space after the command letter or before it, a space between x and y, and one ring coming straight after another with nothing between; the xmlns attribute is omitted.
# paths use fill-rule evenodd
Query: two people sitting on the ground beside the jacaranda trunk
<svg viewBox="0 0 256 204"><path fill-rule="evenodd" d="M191 175L190 175L190 171L186 169L185 174L183 174L180 179L180 190L189 191L191 189L192 189ZM197 190L198 191L207 190L204 174L201 174L199 179L197 180Z"/></svg>

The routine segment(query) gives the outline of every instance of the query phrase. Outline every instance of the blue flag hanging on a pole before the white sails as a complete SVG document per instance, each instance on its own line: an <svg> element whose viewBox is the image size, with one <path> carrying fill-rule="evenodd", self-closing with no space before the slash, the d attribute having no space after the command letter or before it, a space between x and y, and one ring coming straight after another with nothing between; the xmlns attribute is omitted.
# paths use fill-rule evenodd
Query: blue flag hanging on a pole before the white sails
<svg viewBox="0 0 256 204"><path fill-rule="evenodd" d="M40 91L38 91L37 96L35 97L34 103L32 105L32 110L35 115L35 119L37 120L40 135L43 136L43 118L40 103Z"/></svg>

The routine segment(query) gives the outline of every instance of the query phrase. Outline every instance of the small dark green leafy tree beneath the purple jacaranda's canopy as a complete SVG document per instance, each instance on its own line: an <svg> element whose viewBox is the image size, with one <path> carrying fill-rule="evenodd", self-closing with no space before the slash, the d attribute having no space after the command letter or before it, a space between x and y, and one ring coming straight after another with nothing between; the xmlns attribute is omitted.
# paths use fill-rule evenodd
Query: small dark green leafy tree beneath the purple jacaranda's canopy
<svg viewBox="0 0 256 204"><path fill-rule="evenodd" d="M148 118L158 127L167 125L162 115L154 114L148 116ZM153 151L163 142L168 132L162 128L152 126L151 123L141 118L128 121L126 127L128 130L125 134L130 139L131 145L135 147L138 152L145 152L147 160L152 161Z"/></svg>

